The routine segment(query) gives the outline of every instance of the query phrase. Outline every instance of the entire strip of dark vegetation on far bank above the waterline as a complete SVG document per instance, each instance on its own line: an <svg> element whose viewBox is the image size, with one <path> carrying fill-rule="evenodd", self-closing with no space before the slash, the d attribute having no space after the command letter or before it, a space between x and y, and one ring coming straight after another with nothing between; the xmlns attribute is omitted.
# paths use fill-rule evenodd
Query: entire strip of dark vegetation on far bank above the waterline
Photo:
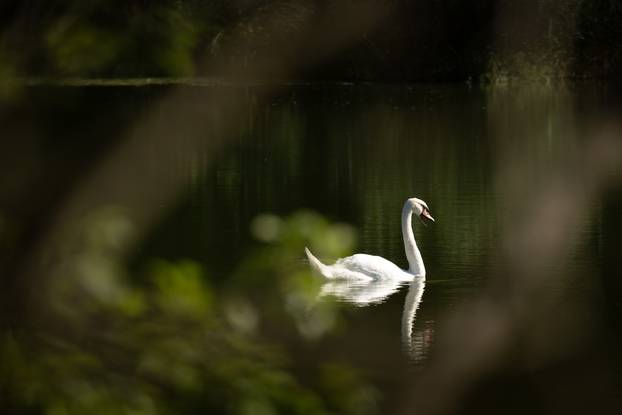
<svg viewBox="0 0 622 415"><path fill-rule="evenodd" d="M340 38L356 18L348 1L9 0L2 66L26 77L270 77L267 63L318 53L298 77L495 83L617 78L622 67L619 0L368 3L384 20L324 56L313 41Z"/></svg>

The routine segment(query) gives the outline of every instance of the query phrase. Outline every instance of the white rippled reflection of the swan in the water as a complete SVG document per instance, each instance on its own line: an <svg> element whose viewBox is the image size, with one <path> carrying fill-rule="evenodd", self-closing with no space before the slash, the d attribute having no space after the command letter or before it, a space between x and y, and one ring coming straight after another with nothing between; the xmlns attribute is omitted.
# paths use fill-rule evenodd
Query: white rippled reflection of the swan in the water
<svg viewBox="0 0 622 415"><path fill-rule="evenodd" d="M424 278L415 278L410 283L395 280L332 280L322 285L318 298L334 298L340 302L365 307L383 303L405 285L408 285L408 293L402 311L402 347L414 362L419 362L425 357L429 343L426 332L420 335L413 333L415 317L425 290Z"/></svg>

